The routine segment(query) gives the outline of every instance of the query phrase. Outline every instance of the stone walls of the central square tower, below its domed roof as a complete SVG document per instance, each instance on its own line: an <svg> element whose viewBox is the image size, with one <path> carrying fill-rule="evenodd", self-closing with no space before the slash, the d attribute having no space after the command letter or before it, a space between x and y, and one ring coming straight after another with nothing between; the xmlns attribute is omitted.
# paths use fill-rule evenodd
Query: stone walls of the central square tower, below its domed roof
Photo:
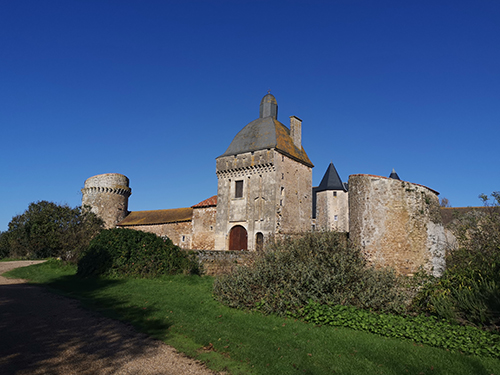
<svg viewBox="0 0 500 375"><path fill-rule="evenodd" d="M248 232L248 250L256 238L311 230L312 170L275 150L261 150L217 159L215 249L229 248L229 232L241 225ZM242 197L235 196L243 181Z"/></svg>

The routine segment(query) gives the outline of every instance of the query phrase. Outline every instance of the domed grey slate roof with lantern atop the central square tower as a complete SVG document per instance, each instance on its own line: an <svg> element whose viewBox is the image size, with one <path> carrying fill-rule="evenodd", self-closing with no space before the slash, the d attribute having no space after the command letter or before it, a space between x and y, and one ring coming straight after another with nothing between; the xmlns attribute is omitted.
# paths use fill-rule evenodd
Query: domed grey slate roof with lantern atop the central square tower
<svg viewBox="0 0 500 375"><path fill-rule="evenodd" d="M258 150L275 149L309 167L314 165L309 160L304 148L295 146L290 137L290 129L279 122L276 98L267 94L260 104L260 117L246 125L236 136L222 156L243 154Z"/></svg>

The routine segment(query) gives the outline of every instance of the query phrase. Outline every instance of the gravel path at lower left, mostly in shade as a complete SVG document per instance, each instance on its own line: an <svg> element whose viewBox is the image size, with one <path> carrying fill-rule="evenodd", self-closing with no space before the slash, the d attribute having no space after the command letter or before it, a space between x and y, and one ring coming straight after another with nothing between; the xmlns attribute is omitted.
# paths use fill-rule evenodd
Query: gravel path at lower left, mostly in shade
<svg viewBox="0 0 500 375"><path fill-rule="evenodd" d="M161 341L1 274L36 261L0 262L0 374L212 374Z"/></svg>

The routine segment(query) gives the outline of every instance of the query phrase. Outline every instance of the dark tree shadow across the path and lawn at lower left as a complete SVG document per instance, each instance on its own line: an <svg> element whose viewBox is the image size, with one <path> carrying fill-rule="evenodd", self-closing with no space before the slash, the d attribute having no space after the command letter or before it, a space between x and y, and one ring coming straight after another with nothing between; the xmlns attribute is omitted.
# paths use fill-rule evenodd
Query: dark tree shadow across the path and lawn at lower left
<svg viewBox="0 0 500 375"><path fill-rule="evenodd" d="M127 319L149 334L164 336L169 325L152 318L155 306L93 297L96 291L123 282L62 276L43 285L107 316ZM158 350L155 340L130 325L29 284L0 285L0 334L1 374L113 373L131 359Z"/></svg>

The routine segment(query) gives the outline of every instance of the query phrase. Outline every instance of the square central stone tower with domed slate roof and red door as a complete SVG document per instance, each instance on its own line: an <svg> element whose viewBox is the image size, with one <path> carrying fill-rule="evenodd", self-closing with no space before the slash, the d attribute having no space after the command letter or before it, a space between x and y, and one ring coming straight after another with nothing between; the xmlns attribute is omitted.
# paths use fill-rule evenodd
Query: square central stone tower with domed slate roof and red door
<svg viewBox="0 0 500 375"><path fill-rule="evenodd" d="M258 251L275 234L311 229L312 163L301 145L302 120L277 120L271 94L216 159L215 248ZM237 237L237 239L235 239Z"/></svg>

